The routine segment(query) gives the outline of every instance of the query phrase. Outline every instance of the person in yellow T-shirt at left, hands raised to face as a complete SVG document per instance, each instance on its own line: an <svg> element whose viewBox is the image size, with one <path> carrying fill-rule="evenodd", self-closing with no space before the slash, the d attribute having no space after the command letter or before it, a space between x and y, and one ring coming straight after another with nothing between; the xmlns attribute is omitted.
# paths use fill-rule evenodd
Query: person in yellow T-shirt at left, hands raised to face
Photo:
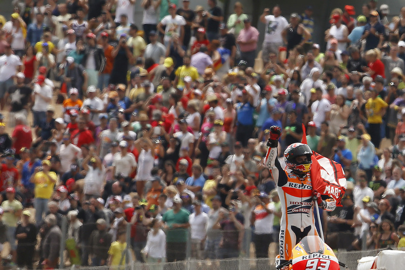
<svg viewBox="0 0 405 270"><path fill-rule="evenodd" d="M49 160L42 161L42 167L35 168L35 173L32 174L29 181L34 183L34 207L36 224L39 225L42 221L42 215L48 209L48 202L54 191L54 186L58 180L55 172L51 172L51 162Z"/></svg>

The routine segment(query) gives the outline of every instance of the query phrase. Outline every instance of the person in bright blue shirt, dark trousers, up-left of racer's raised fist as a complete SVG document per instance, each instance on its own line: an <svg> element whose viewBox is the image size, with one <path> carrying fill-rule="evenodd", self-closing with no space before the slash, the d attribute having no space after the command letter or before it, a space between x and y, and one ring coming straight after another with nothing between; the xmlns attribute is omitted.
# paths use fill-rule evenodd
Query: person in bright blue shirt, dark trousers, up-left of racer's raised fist
<svg viewBox="0 0 405 270"><path fill-rule="evenodd" d="M253 96L244 89L245 87L242 85L237 87L242 90L242 102L236 104L236 117L234 119L236 141L240 141L242 146L246 147L254 131L253 113L255 107L252 105Z"/></svg>

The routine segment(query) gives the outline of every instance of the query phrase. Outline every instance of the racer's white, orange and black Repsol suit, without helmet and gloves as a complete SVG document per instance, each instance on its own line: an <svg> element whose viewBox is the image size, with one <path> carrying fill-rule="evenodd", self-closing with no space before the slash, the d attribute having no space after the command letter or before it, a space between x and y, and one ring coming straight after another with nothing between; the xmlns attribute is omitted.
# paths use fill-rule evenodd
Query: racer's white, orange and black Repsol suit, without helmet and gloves
<svg viewBox="0 0 405 270"><path fill-rule="evenodd" d="M277 184L281 202L279 252L281 260L289 260L293 247L307 235L318 235L313 212L313 195L310 173L299 177L290 169L282 169L277 159L277 148L269 148L264 165ZM336 206L334 199L325 201L327 211Z"/></svg>

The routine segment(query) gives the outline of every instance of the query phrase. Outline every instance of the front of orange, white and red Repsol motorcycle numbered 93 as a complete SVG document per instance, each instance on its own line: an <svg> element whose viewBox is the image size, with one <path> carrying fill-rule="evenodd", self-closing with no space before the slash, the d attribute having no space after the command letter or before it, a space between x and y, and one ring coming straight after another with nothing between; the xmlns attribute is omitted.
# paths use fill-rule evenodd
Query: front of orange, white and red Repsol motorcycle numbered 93
<svg viewBox="0 0 405 270"><path fill-rule="evenodd" d="M304 237L293 248L292 253L292 259L282 264L276 258L277 270L339 270L340 266L347 268L319 236Z"/></svg>

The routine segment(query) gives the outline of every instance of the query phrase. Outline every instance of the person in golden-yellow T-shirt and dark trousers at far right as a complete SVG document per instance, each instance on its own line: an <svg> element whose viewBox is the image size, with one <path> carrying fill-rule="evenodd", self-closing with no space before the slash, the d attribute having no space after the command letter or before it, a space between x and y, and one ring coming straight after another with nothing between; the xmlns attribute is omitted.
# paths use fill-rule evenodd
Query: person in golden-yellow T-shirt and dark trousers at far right
<svg viewBox="0 0 405 270"><path fill-rule="evenodd" d="M381 142L381 123L388 104L378 96L377 90L373 89L371 98L366 103L367 122L369 123L368 133L371 136L371 142L376 148Z"/></svg>

